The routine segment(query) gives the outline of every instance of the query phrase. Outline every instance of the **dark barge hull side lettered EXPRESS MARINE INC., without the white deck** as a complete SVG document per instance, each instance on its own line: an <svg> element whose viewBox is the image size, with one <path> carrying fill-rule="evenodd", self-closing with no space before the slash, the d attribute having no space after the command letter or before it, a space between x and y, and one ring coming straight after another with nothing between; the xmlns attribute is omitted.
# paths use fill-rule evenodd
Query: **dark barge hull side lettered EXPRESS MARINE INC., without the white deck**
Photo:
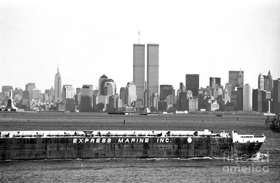
<svg viewBox="0 0 280 183"><path fill-rule="evenodd" d="M191 140L188 141L188 138ZM0 160L113 157L231 159L241 155L251 157L258 153L261 145L262 142L233 143L232 138L223 137L0 138Z"/></svg>

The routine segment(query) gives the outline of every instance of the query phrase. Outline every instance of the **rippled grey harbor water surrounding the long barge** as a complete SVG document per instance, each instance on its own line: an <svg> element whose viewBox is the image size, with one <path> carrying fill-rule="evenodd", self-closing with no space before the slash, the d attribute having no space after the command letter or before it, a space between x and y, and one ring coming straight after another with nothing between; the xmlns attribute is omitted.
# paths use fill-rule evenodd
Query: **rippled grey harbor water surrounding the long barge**
<svg viewBox="0 0 280 183"><path fill-rule="evenodd" d="M240 115L0 113L1 131L209 129L230 133L234 129L238 134L263 132L267 137L259 157L244 162L227 160L231 157L0 161L0 182L279 182L280 134L267 129L265 120L265 116Z"/></svg>

